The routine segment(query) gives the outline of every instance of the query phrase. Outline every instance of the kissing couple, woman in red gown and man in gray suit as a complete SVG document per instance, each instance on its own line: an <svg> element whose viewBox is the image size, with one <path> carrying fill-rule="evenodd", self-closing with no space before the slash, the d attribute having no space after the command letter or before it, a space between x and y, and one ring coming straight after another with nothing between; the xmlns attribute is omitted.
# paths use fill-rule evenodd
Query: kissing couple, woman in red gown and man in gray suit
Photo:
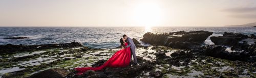
<svg viewBox="0 0 256 78"><path fill-rule="evenodd" d="M127 41L127 42L126 42ZM133 40L127 35L123 35L123 38L120 39L122 49L117 51L108 61L106 61L103 65L98 67L81 67L75 68L78 71L77 74L82 74L87 70L101 70L105 67L126 67L130 65L132 60L132 55L134 59L133 65L137 65L137 57L135 54L135 44Z"/></svg>

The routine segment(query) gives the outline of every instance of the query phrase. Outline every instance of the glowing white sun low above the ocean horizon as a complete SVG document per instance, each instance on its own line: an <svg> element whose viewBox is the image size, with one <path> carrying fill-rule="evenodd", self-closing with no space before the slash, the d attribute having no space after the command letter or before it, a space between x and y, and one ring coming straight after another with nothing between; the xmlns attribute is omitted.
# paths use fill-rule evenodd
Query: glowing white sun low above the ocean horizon
<svg viewBox="0 0 256 78"><path fill-rule="evenodd" d="M140 26L157 26L161 18L161 8L156 3L138 4L133 12L133 20Z"/></svg>

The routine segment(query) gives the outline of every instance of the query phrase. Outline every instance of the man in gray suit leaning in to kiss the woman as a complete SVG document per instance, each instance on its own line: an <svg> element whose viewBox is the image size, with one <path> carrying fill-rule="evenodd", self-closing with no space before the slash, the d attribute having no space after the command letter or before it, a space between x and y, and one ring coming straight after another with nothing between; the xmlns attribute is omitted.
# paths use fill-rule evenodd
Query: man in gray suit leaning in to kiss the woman
<svg viewBox="0 0 256 78"><path fill-rule="evenodd" d="M128 45L125 48L130 47L130 49L131 49L131 53L133 55L133 60L134 60L133 65L137 65L137 57L136 57L136 54L135 54L136 46L133 43L133 40L130 37L128 37L127 35L125 35L125 34L123 35L123 38L128 42ZM131 58L131 61L132 61L132 58Z"/></svg>

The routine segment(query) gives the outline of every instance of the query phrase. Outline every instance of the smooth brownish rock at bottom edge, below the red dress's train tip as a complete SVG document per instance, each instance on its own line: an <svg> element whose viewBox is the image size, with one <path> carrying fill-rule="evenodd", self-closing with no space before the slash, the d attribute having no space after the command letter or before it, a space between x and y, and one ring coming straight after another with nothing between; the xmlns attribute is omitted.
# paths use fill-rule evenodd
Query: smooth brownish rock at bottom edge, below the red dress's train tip
<svg viewBox="0 0 256 78"><path fill-rule="evenodd" d="M54 68L54 69L48 69L45 71L41 71L38 73L35 73L29 77L31 78L65 78L68 75L68 71L66 69L60 69L60 68Z"/></svg>

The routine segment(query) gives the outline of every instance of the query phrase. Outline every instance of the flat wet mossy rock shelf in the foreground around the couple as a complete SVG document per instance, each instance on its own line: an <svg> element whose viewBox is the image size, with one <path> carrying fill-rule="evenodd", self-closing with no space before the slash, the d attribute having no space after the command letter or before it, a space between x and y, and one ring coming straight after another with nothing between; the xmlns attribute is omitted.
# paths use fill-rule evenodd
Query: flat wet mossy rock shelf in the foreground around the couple
<svg viewBox="0 0 256 78"><path fill-rule="evenodd" d="M68 71L65 77L241 77L244 74L247 74L245 77L253 77L256 75L254 73L256 71L255 63L223 60L204 56L200 54L202 52L200 50L181 50L164 46L148 46L147 48L140 47L136 49L138 65L135 66L107 67L99 71L90 70L82 75L77 75L77 72L73 70L74 67L100 66L117 50L119 49L90 49L86 47L46 50L46 52L36 54L39 57L27 58L17 62L6 60L9 58L1 58L0 68L1 70L11 69L12 67L20 69L4 73L2 77L29 77L49 68L65 68ZM59 52L63 54L59 55ZM34 54L34 52L28 54ZM77 58L77 56L82 57ZM6 56L1 55L1 57ZM65 60L65 58L70 59ZM34 61L38 59L45 60ZM23 64L23 62L28 64ZM3 72L1 70L0 72ZM54 75L56 74L58 73Z"/></svg>

